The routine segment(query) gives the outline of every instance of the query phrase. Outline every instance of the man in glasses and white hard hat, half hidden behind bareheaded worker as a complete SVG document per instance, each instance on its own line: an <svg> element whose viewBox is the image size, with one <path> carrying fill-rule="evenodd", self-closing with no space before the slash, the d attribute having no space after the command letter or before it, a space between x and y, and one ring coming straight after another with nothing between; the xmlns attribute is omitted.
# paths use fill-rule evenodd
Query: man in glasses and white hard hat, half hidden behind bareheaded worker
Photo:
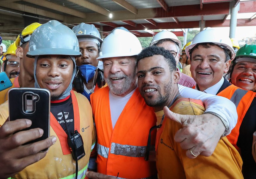
<svg viewBox="0 0 256 179"><path fill-rule="evenodd" d="M178 67L180 59L181 42L174 33L169 32L168 30L163 30L157 33L151 41L150 46L152 45L163 47L166 50L169 50L171 54L174 56L177 65L177 70L180 72L180 81L178 84L183 85L185 87L192 87L196 84L193 78L191 78L188 75L185 75L184 73L181 73L181 70Z"/></svg>

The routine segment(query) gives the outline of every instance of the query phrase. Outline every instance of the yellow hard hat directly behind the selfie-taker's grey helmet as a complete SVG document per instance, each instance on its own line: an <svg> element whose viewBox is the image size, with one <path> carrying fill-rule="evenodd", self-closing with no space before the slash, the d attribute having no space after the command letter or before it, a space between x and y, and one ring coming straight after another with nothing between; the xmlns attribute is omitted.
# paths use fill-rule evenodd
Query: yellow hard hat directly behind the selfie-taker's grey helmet
<svg viewBox="0 0 256 179"><path fill-rule="evenodd" d="M18 35L18 37L16 38L15 44L16 47L20 46L20 42L22 44L25 44L26 42L29 41L30 35L34 32L34 30L39 27L42 24L39 24L38 22L34 22L30 25L28 25L27 27L25 27L22 32ZM26 39L25 39L26 38Z"/></svg>

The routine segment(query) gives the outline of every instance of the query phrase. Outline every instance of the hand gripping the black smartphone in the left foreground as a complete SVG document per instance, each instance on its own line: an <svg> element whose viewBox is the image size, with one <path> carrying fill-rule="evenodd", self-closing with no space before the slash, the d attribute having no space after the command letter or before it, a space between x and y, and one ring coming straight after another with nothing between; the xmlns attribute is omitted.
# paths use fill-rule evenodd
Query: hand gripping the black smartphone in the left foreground
<svg viewBox="0 0 256 179"><path fill-rule="evenodd" d="M0 127L0 178L11 177L32 163L41 160L47 151L40 151L56 142L56 137L51 136L43 141L22 145L43 135L43 130L39 128L17 132L29 126L31 126L31 120L28 119L15 121L7 119Z"/></svg>

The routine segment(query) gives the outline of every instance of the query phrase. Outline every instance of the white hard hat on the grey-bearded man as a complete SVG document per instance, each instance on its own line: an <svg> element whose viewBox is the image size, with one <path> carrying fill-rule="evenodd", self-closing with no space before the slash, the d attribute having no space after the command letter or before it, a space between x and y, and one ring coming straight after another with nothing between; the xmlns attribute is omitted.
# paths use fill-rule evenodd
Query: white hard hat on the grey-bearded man
<svg viewBox="0 0 256 179"><path fill-rule="evenodd" d="M125 30L115 29L103 40L97 60L138 55L141 50L141 43L135 35Z"/></svg>

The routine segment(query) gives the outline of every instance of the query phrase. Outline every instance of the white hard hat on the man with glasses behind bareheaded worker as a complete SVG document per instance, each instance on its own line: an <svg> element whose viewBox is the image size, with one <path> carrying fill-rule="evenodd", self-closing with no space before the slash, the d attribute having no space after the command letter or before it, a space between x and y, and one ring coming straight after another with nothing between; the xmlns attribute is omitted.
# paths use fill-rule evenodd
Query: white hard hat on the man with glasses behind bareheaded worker
<svg viewBox="0 0 256 179"><path fill-rule="evenodd" d="M161 32L157 33L153 37L153 39L150 43L150 46L152 46L153 44L156 44L159 40L162 40L162 39L165 39L165 38L169 38L169 39L173 40L174 42L176 42L179 45L180 49L181 49L181 42L179 41L177 36L174 33L170 32L168 30L162 30Z"/></svg>

